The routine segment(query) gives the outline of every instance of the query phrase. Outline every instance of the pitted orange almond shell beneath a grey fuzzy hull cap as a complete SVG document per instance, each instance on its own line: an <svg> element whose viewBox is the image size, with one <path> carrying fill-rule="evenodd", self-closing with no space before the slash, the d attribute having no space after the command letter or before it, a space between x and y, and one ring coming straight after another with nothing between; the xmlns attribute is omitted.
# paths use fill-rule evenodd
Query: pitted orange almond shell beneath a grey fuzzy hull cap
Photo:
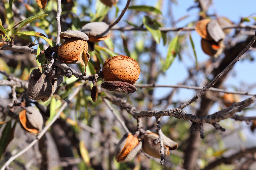
<svg viewBox="0 0 256 170"><path fill-rule="evenodd" d="M86 64L82 60L81 56L88 50L88 43L80 38L68 38L59 47L58 54L62 62L73 64L76 61L80 61L84 66ZM85 58L86 55L85 55ZM86 61L86 60L85 60Z"/></svg>

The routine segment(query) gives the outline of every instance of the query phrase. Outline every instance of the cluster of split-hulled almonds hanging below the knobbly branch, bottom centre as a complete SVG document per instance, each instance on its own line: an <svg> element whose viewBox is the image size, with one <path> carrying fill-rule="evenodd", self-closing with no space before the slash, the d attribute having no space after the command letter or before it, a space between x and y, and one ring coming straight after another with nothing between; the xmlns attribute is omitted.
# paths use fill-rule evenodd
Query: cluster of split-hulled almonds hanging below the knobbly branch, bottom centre
<svg viewBox="0 0 256 170"><path fill-rule="evenodd" d="M167 157L170 155L169 150L177 149L178 144L166 137L162 132L161 135L164 143L164 154L165 157ZM161 158L160 143L154 145L154 139L158 139L158 135L152 133L150 130L146 131L146 134L144 134L140 141L136 135L126 133L115 148L115 160L117 162L128 162L132 160L141 149L144 153L154 158Z"/></svg>

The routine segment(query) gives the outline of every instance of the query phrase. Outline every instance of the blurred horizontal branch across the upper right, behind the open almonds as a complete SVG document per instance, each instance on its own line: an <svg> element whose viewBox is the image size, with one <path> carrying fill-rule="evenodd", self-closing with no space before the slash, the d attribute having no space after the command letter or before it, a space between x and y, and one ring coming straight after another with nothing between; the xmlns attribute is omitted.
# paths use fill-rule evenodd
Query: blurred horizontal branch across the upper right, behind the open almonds
<svg viewBox="0 0 256 170"><path fill-rule="evenodd" d="M232 26L221 26L222 29L230 29L230 28L243 28L243 29L256 29L255 25L245 26L245 25L232 25ZM111 28L112 30L120 30L120 31L147 31L146 28L143 27L133 27L133 26L126 26L126 27L114 27ZM191 31L195 30L195 27L160 27L160 31L168 32L168 31Z"/></svg>

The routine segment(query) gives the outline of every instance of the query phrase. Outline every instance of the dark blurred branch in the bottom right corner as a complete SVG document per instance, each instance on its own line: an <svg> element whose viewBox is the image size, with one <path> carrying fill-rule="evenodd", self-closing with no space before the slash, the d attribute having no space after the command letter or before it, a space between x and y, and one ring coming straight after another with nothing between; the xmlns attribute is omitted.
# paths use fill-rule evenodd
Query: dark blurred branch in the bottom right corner
<svg viewBox="0 0 256 170"><path fill-rule="evenodd" d="M255 152L256 152L256 147L248 148L248 149L243 150L241 152L238 152L238 153L236 153L234 155L231 155L228 158L222 157L220 159L217 159L217 160L213 161L212 163L210 163L209 165L207 165L205 168L203 168L203 170L213 169L214 167L216 167L216 166L218 166L218 165L220 165L222 163L231 164L232 160L237 159L237 158L242 158L247 153L255 153Z"/></svg>

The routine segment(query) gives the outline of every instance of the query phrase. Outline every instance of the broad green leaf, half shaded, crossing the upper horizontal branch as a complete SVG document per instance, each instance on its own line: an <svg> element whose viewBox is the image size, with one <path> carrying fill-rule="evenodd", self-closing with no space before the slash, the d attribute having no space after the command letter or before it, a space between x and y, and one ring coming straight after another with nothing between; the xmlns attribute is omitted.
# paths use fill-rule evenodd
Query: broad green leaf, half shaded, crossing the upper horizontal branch
<svg viewBox="0 0 256 170"><path fill-rule="evenodd" d="M161 39L161 31L159 30L159 24L156 21L151 20L150 17L145 16L143 18L143 24L147 30L153 35L156 43L159 44Z"/></svg>

